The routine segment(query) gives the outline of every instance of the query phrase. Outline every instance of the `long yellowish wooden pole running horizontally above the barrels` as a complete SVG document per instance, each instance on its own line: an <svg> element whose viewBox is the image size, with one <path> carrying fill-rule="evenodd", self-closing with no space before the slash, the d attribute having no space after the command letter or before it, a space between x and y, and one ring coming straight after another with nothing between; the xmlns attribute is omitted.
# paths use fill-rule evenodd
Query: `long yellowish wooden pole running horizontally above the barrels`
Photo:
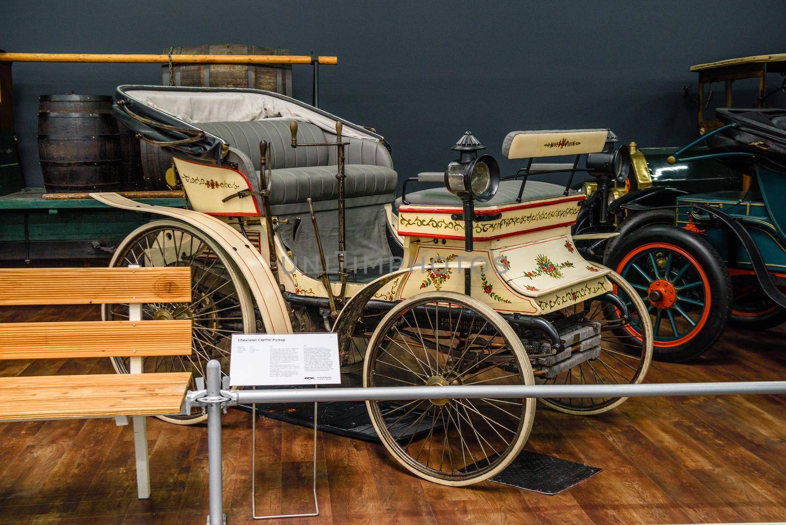
<svg viewBox="0 0 786 525"><path fill-rule="evenodd" d="M168 64L169 55L111 53L0 53L0 62L92 62L102 64ZM172 55L172 64L311 64L302 55ZM337 57L314 57L337 64Z"/></svg>

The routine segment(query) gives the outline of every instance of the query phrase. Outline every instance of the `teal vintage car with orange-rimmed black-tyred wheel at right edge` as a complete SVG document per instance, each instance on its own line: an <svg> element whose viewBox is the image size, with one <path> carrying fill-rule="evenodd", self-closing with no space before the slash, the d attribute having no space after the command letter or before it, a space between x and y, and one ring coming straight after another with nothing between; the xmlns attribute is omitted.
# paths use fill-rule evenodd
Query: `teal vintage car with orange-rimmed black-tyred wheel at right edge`
<svg viewBox="0 0 786 525"><path fill-rule="evenodd" d="M714 159L755 182L747 190L678 196L675 225L643 226L607 253L648 300L656 358L702 354L734 310L764 329L786 321L786 111L718 108L724 124L669 157L673 165ZM684 157L701 142L708 153ZM647 213L647 212L645 212Z"/></svg>

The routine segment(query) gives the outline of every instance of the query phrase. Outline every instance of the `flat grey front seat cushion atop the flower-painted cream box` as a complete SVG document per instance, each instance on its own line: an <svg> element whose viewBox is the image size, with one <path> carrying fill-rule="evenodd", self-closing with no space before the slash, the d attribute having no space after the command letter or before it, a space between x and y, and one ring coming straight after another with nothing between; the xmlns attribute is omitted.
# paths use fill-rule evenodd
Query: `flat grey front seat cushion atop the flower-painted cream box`
<svg viewBox="0 0 786 525"><path fill-rule="evenodd" d="M476 207L485 206L507 206L516 204L516 197L519 196L521 181L503 181L499 183L496 195L487 202L477 202ZM565 193L565 186L552 184L551 182L527 181L524 185L524 193L521 201L542 200L561 197ZM461 207L461 199L450 193L447 188L421 189L419 192L407 193L406 200L413 206L457 206ZM395 200L394 209L399 211L401 197Z"/></svg>

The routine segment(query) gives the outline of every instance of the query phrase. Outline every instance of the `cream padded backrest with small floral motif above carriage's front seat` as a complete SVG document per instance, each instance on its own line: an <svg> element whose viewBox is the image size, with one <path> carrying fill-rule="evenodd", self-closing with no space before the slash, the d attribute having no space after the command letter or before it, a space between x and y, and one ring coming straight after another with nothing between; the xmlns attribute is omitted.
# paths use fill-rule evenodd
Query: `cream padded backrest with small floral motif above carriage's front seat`
<svg viewBox="0 0 786 525"><path fill-rule="evenodd" d="M502 141L506 159L579 155L603 150L608 130L511 131Z"/></svg>

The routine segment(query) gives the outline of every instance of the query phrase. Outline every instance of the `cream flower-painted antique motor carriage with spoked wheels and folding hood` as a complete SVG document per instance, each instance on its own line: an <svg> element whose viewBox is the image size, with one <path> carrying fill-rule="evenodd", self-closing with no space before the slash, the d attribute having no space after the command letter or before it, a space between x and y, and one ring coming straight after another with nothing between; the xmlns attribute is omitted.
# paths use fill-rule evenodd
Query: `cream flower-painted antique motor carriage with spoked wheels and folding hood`
<svg viewBox="0 0 786 525"><path fill-rule="evenodd" d="M532 157L604 148L607 130L516 131L502 154L528 168L500 180L467 133L443 187L395 201L398 175L379 134L260 90L120 86L115 111L142 140L167 147L190 209L116 193L105 204L161 218L123 241L112 266L189 266L192 303L152 304L145 318L193 320L189 359L149 372L228 371L234 333L333 330L366 386L634 384L652 357L643 301L575 249L584 196L526 174ZM521 178L523 180L514 180ZM127 318L105 305L105 319ZM127 373L124 359L114 362ZM545 399L595 414L623 398ZM448 485L500 472L522 449L534 399L369 402L388 450ZM173 415L189 424L203 417Z"/></svg>

